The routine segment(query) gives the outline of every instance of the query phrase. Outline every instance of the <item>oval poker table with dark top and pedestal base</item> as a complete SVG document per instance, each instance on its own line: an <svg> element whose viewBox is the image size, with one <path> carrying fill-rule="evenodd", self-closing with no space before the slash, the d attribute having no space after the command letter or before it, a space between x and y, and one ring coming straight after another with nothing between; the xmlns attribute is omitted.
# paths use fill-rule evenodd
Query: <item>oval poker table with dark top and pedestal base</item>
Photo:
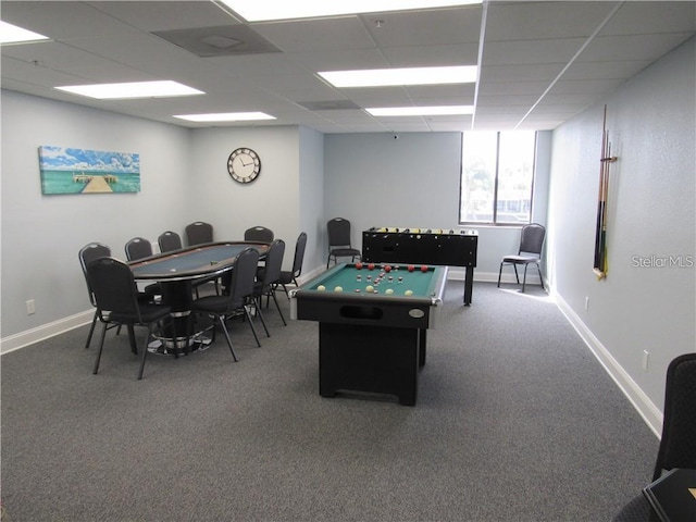
<svg viewBox="0 0 696 522"><path fill-rule="evenodd" d="M159 282L162 301L172 307L172 325L165 335L164 352L172 348L175 351L188 348L194 283L232 270L236 256L248 247L259 250L260 259L269 251L266 243L222 241L186 247L128 263L136 281Z"/></svg>

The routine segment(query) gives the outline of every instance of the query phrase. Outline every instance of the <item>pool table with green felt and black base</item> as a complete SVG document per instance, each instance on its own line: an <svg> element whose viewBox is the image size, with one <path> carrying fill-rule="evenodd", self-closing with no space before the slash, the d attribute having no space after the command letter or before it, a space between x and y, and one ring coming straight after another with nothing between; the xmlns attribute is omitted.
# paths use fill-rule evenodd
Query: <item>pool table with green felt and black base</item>
<svg viewBox="0 0 696 522"><path fill-rule="evenodd" d="M290 318L319 322L322 397L386 394L415 405L426 331L437 324L448 269L389 268L337 264L290 291Z"/></svg>

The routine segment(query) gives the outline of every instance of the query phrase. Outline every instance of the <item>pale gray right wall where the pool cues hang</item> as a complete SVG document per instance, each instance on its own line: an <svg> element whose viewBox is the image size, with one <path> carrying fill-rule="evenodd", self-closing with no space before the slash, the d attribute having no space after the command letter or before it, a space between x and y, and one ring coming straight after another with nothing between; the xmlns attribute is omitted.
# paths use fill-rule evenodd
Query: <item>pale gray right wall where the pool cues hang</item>
<svg viewBox="0 0 696 522"><path fill-rule="evenodd" d="M695 41L606 100L619 160L610 166L604 281L592 271L604 103L554 133L549 277L569 316L632 399L647 396L660 409L669 361L696 347L695 269L641 268L636 257L696 261ZM650 353L647 372L643 350Z"/></svg>

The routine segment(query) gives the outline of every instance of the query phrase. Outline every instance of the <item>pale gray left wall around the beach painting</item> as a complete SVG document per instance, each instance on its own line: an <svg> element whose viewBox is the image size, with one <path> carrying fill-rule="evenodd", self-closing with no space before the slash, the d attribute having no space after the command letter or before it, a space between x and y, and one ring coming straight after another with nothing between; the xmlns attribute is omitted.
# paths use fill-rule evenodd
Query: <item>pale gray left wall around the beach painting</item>
<svg viewBox="0 0 696 522"><path fill-rule="evenodd" d="M77 251L89 241L123 246L187 222L194 164L190 130L2 91L2 337L89 308ZM38 147L138 152L142 191L42 196ZM27 315L34 299L36 313Z"/></svg>

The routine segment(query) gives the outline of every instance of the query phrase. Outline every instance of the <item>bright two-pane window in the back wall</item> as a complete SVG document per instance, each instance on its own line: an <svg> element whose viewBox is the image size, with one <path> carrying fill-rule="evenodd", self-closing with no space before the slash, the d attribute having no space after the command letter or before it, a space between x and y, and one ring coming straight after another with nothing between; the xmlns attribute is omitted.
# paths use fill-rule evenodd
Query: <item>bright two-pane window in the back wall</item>
<svg viewBox="0 0 696 522"><path fill-rule="evenodd" d="M462 139L459 222L530 223L536 133L464 133Z"/></svg>

